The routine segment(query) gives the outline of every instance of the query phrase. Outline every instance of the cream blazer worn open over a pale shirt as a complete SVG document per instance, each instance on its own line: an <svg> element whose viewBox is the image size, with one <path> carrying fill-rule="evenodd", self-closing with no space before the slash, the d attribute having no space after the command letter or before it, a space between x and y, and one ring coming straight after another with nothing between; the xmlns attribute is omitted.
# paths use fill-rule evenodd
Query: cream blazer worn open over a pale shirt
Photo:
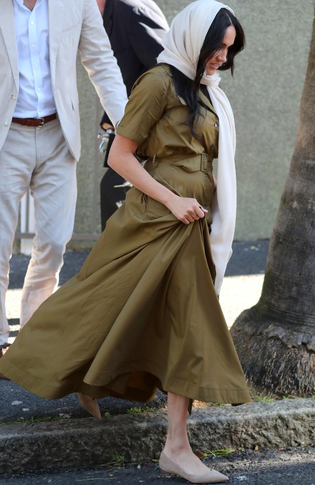
<svg viewBox="0 0 315 485"><path fill-rule="evenodd" d="M8 134L18 95L18 58L13 0L1 0L0 149ZM95 0L48 0L49 57L57 113L69 149L80 157L76 60L81 62L113 125L124 114L127 94Z"/></svg>

